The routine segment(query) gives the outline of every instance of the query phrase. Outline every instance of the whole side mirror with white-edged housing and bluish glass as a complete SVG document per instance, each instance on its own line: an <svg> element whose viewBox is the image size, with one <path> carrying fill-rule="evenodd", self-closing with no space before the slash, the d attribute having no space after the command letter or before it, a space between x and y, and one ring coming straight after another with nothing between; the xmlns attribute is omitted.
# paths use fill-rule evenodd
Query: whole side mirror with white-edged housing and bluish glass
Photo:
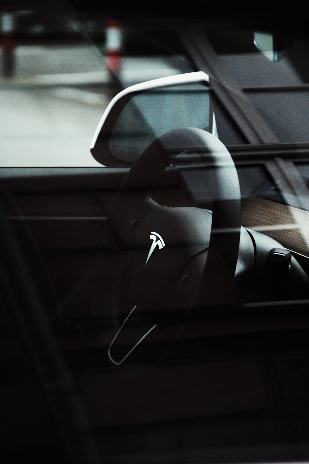
<svg viewBox="0 0 309 464"><path fill-rule="evenodd" d="M122 90L107 106L90 151L107 166L132 166L144 149L171 129L196 127L217 135L202 71L163 77Z"/></svg>

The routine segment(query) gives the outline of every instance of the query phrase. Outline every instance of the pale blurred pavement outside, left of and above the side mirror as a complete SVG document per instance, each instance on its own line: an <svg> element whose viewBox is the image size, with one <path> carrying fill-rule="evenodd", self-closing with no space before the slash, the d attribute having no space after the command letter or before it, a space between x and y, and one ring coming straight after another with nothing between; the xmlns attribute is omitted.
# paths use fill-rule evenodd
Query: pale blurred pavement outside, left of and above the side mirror
<svg viewBox="0 0 309 464"><path fill-rule="evenodd" d="M171 59L124 58L119 77L124 88L180 72ZM94 45L17 47L0 89L0 166L100 166L89 145L117 89Z"/></svg>

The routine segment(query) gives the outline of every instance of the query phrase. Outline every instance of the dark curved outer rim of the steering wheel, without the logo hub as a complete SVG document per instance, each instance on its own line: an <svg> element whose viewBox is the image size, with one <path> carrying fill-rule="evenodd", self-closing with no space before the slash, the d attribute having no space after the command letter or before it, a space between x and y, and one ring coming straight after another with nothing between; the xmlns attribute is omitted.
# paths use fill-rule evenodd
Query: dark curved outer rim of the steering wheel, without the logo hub
<svg viewBox="0 0 309 464"><path fill-rule="evenodd" d="M115 249L134 250L136 222L139 223L139 220L135 218L136 214L130 212L136 211L139 206L145 209L144 216L147 216L149 212L158 209L159 205L151 198L151 188L160 180L173 159L185 150L201 155L212 170L210 187L215 199L206 262L186 303L187 307L192 308L205 305L205 298L211 294L214 286L213 268L218 262L218 256L221 264L224 263L225 279L229 283L233 282L238 259L240 186L233 159L219 139L196 128L173 129L158 137L139 156L123 181L108 216L106 232L110 239L113 237ZM148 253L146 249L145 261ZM142 316L148 317L145 313Z"/></svg>

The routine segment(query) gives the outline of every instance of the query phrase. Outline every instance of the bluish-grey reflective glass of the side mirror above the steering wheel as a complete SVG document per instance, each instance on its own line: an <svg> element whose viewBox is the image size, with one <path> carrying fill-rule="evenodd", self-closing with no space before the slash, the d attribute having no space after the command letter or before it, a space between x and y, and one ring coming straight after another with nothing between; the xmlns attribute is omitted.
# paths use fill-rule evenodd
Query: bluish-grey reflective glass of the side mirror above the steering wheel
<svg viewBox="0 0 309 464"><path fill-rule="evenodd" d="M175 85L135 95L114 125L109 150L120 160L135 161L158 136L182 127L212 132L207 85Z"/></svg>

